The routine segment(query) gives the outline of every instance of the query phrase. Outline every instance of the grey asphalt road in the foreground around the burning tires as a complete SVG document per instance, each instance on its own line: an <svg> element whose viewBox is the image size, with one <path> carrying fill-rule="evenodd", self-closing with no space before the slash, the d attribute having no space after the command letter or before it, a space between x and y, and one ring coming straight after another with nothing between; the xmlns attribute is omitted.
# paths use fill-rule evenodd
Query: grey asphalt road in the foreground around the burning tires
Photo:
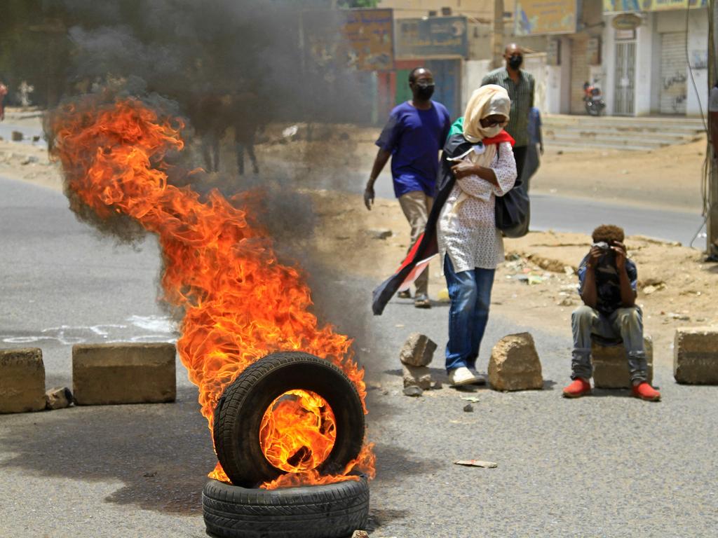
<svg viewBox="0 0 718 538"><path fill-rule="evenodd" d="M75 342L176 336L155 302L152 240L115 245L77 222L61 194L3 179L0 237L0 346L42 347L48 387L70 384ZM716 534L717 387L675 384L658 366L658 404L624 391L564 400L566 333L531 330L545 390L404 397L398 349L422 331L440 350L447 306L397 300L375 318L374 284L325 273L317 288L322 317L357 336L372 382L373 537ZM529 329L493 316L480 366L501 336ZM432 367L445 380L441 355ZM1 415L0 537L203 536L200 491L215 460L182 367L177 378L174 404ZM479 402L464 412L469 395ZM452 464L466 458L498 468Z"/></svg>

